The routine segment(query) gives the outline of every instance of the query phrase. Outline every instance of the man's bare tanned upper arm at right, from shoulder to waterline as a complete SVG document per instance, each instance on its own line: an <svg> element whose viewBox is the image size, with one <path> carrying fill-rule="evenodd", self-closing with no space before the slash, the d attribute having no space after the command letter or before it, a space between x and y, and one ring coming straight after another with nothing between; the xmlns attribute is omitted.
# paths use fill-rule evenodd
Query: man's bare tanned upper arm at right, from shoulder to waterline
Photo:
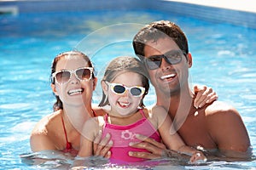
<svg viewBox="0 0 256 170"><path fill-rule="evenodd" d="M207 107L207 127L218 150L227 157L249 158L250 139L238 111L222 102Z"/></svg>

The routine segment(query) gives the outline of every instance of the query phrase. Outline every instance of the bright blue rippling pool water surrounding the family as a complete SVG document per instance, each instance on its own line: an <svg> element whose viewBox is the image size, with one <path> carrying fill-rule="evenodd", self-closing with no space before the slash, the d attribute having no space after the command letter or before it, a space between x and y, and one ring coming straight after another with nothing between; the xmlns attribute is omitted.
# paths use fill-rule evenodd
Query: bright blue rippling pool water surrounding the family
<svg viewBox="0 0 256 170"><path fill-rule="evenodd" d="M256 30L146 10L7 14L0 15L0 168L61 168L63 164L55 160L28 162L20 159L20 155L31 153L32 127L52 111L54 97L49 87L49 73L56 54L73 48L90 54L101 77L110 59L133 55L133 34L143 24L154 20L172 20L183 28L194 57L191 84L212 87L219 100L236 107L247 127L255 155ZM100 95L98 86L95 103ZM154 103L152 88L145 103ZM252 169L256 161L210 161L200 167L176 166L170 162L152 168L172 167Z"/></svg>

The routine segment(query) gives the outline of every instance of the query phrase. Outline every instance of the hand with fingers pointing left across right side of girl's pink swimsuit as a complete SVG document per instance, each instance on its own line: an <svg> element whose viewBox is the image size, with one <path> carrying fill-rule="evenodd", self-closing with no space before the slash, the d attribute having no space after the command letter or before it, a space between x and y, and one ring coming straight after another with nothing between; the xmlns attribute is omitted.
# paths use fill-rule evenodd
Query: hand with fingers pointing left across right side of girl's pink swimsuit
<svg viewBox="0 0 256 170"><path fill-rule="evenodd" d="M136 137L137 139L142 140L142 142L130 143L130 146L134 148L141 148L141 149L148 150L149 153L130 151L129 156L134 156L134 157L139 157L144 159L157 159L162 157L165 154L164 152L164 150L166 150L165 144L159 143L154 139L150 139L141 134L137 134Z"/></svg>

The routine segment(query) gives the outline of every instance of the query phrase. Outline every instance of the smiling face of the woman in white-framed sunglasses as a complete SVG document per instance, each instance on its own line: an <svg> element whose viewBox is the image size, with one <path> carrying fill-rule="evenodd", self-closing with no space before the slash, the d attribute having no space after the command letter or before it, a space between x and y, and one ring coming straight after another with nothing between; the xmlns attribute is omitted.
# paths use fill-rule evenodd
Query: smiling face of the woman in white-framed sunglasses
<svg viewBox="0 0 256 170"><path fill-rule="evenodd" d="M62 57L55 68L55 72L58 71L75 71L76 69L89 67L87 61L82 56L76 57ZM90 71L87 71L87 73ZM78 72L79 74L79 72ZM90 105L92 92L96 88L96 78L92 77L90 80L80 81L75 73L72 72L69 81L57 82L55 77L55 84L52 84L52 90L55 95L58 95L63 103L63 107L66 105ZM64 77L61 77L64 80Z"/></svg>

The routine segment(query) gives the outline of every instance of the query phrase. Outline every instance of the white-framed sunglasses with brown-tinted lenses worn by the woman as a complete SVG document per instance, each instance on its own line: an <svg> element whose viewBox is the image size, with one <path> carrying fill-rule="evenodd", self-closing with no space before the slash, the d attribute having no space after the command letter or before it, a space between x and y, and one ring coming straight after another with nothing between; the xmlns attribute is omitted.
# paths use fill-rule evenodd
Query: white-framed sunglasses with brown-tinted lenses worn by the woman
<svg viewBox="0 0 256 170"><path fill-rule="evenodd" d="M82 67L72 71L57 71L52 74L52 82L55 78L59 84L70 81L72 74L79 79L79 81L89 81L91 79L93 67Z"/></svg>

